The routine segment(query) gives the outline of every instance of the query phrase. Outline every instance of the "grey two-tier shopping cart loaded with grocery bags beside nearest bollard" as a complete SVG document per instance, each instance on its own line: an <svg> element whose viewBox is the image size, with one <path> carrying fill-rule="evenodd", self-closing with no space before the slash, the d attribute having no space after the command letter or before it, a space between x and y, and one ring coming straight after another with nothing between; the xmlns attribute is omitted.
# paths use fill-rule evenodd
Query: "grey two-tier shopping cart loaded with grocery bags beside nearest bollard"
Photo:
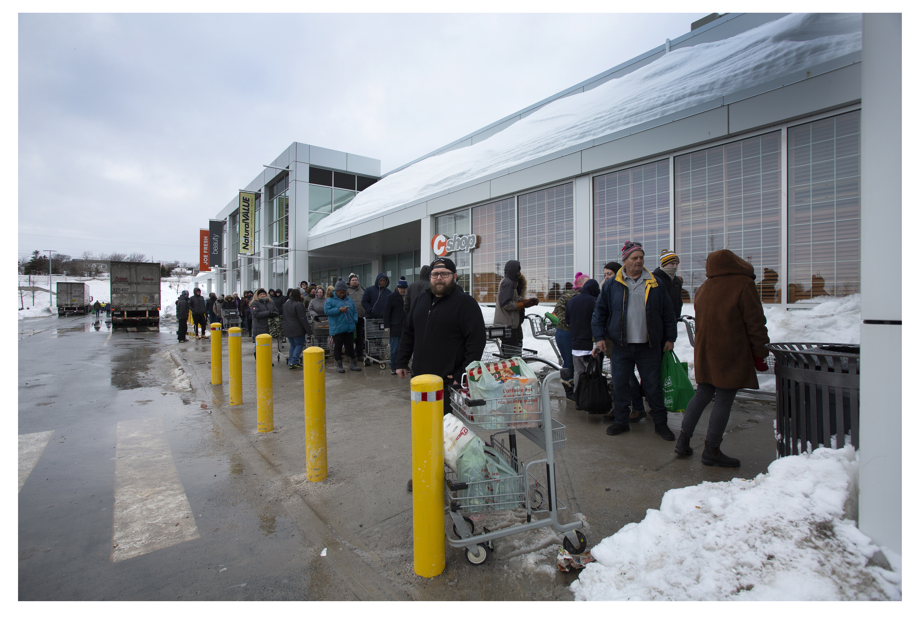
<svg viewBox="0 0 916 617"><path fill-rule="evenodd" d="M549 361L543 361L548 364ZM558 368L555 367L554 368ZM476 429L479 433L493 430L487 449L495 449L499 456L507 461L518 473L516 476L495 480L477 482L461 482L456 471L445 464L445 501L448 512L453 521L453 532L457 539L446 536L449 545L454 548L464 548L464 557L475 566L487 560L493 550L493 540L500 537L513 536L533 529L540 529L552 525L554 529L563 534L563 548L573 554L582 553L586 547L585 536L579 529L583 527L582 521L573 521L562 525L557 513L565 510L567 505L557 498L556 467L553 462L553 451L562 449L566 445L566 427L551 417L551 398L549 391L551 384L560 379L558 370L551 371L538 379L535 385L536 410L522 415L523 420L518 421L514 414L505 414L503 411L491 411L494 408L488 405L488 400L472 400L463 394L461 389L450 387L450 403L453 414L460 418L469 428ZM530 405L530 394L515 399L492 399L499 401L505 409L507 404ZM519 424L524 428L516 428ZM536 426L533 426L536 425ZM544 427L550 427L545 430ZM526 438L544 450L545 456L538 460L528 462L518 458L516 449L516 435L521 433ZM483 433L485 434L485 433ZM504 439L496 437L507 434L509 446L506 447ZM496 485L496 486L495 486ZM487 495L482 497L482 495ZM495 531L484 527L484 533L474 536L474 521L464 514L476 512L524 509L526 522L511 525ZM544 518L532 520L533 514L547 514Z"/></svg>

